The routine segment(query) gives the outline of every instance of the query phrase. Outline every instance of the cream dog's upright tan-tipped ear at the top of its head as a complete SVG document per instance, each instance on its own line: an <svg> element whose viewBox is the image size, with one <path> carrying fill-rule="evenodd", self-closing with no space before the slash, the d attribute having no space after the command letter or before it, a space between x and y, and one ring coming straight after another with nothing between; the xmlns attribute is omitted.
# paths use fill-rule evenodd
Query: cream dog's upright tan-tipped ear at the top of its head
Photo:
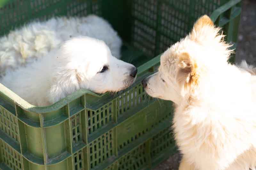
<svg viewBox="0 0 256 170"><path fill-rule="evenodd" d="M207 15L204 15L195 22L190 33L190 39L200 43L204 40L214 38L219 30L219 28L214 26L211 18L209 18Z"/></svg>

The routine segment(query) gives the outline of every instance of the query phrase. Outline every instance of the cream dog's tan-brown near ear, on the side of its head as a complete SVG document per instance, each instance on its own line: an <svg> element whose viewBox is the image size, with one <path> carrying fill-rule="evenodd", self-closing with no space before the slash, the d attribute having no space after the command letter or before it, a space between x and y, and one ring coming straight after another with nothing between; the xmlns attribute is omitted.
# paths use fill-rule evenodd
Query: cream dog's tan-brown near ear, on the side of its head
<svg viewBox="0 0 256 170"><path fill-rule="evenodd" d="M197 85L198 83L198 67L196 62L186 52L179 55L178 70L176 80L180 86Z"/></svg>

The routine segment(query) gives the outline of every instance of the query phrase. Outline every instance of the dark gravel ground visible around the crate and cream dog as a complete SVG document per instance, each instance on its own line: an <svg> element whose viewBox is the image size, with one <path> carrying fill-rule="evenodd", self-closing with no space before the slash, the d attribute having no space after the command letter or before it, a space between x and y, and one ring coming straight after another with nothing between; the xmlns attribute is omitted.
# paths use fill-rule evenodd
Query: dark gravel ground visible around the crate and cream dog
<svg viewBox="0 0 256 170"><path fill-rule="evenodd" d="M256 0L243 0L236 63L241 60L256 65ZM154 170L178 170L180 159L180 154L176 153Z"/></svg>

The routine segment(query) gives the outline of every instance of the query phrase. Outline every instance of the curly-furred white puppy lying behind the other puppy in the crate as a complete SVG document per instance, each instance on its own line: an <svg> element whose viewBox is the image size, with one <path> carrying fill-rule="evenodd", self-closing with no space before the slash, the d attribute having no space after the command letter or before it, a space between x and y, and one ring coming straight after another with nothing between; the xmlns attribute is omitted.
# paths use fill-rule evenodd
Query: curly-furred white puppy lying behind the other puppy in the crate
<svg viewBox="0 0 256 170"><path fill-rule="evenodd" d="M103 18L52 18L35 21L0 38L0 76L6 69L15 70L40 58L71 37L89 36L103 40L113 56L120 58L122 40Z"/></svg>

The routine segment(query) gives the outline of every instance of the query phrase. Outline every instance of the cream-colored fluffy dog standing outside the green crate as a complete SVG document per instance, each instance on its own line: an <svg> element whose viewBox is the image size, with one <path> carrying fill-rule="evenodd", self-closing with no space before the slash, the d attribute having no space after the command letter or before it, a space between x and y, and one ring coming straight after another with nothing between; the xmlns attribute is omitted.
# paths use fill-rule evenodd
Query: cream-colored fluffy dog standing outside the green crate
<svg viewBox="0 0 256 170"><path fill-rule="evenodd" d="M150 96L175 103L180 170L255 170L256 76L227 62L223 37L208 16L199 18L142 81Z"/></svg>

